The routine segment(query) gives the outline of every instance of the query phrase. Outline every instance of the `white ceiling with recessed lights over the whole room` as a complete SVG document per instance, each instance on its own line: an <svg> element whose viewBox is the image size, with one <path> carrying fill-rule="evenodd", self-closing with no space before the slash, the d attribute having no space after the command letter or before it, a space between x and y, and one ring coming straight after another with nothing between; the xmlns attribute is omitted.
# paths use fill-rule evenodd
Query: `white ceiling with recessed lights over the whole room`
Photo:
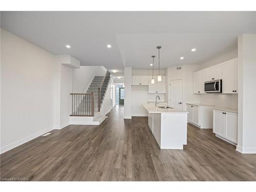
<svg viewBox="0 0 256 192"><path fill-rule="evenodd" d="M151 69L159 45L161 69L236 50L240 34L256 33L256 12L1 12L1 28L120 76L124 66Z"/></svg>

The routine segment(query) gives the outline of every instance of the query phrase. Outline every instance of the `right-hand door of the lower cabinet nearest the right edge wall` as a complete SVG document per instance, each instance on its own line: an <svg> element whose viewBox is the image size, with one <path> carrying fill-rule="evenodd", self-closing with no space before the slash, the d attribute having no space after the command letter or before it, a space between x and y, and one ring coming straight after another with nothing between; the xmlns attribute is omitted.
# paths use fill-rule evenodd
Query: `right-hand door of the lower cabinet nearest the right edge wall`
<svg viewBox="0 0 256 192"><path fill-rule="evenodd" d="M236 113L225 112L225 136L228 140L238 142L238 115Z"/></svg>

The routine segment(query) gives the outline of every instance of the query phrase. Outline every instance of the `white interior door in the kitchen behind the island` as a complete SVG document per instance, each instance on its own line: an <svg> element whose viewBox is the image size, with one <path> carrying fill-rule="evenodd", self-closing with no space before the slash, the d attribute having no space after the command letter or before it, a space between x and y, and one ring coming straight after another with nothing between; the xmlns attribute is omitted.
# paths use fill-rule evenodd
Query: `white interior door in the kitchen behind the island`
<svg viewBox="0 0 256 192"><path fill-rule="evenodd" d="M169 105L172 108L182 110L182 80L170 80L169 88Z"/></svg>

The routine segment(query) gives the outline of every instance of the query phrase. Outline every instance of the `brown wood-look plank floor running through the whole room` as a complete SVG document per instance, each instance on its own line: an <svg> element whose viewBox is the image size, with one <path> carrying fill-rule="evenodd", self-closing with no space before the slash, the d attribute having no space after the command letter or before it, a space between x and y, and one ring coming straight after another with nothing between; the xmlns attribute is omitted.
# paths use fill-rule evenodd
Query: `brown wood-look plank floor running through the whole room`
<svg viewBox="0 0 256 192"><path fill-rule="evenodd" d="M115 107L101 125L69 125L1 155L1 178L30 181L256 181L256 155L212 130L188 124L184 150L160 150L147 117L123 120Z"/></svg>

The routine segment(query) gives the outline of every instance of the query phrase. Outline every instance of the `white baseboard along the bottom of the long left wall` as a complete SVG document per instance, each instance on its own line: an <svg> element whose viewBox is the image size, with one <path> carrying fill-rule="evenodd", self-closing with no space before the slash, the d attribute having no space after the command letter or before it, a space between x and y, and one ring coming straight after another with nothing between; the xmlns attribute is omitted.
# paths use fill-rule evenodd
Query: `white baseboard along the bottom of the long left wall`
<svg viewBox="0 0 256 192"><path fill-rule="evenodd" d="M15 141L15 142L13 142L13 143L10 143L10 144L8 144L8 145L6 145L6 146L3 146L3 147L1 147L0 154L5 153L5 152L7 152L7 151L9 151L9 150L11 150L11 149L13 149L13 148L19 146L19 145L22 145L22 144L24 144L24 143L26 143L26 142L28 142L28 141L30 141L30 140L36 138L36 137L39 137L40 135L44 135L44 134L46 134L47 132L50 132L50 131L52 131L52 130L53 130L53 127L49 127L48 129L39 131L39 132L34 133L34 134L32 134L32 135L30 135L30 136L28 136L28 137L25 137L25 138L23 138L23 139L20 139L20 140L18 140L18 141Z"/></svg>

